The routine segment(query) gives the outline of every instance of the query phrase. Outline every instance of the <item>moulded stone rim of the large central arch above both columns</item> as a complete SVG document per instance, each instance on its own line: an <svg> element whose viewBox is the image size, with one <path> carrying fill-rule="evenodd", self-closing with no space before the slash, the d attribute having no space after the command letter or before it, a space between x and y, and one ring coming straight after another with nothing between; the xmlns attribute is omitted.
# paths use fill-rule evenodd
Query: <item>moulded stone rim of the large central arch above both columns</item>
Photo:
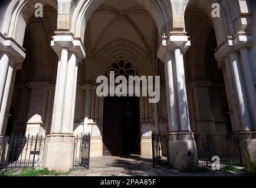
<svg viewBox="0 0 256 188"><path fill-rule="evenodd" d="M82 41L84 39L84 33L86 31L86 25L91 15L105 2L106 0L83 0L80 1L73 12L73 18L71 21L71 31L79 36ZM167 1L144 1L134 0L138 2L147 12L152 16L157 25L159 37L163 33L169 33L172 31L173 16L172 5L170 0Z"/></svg>

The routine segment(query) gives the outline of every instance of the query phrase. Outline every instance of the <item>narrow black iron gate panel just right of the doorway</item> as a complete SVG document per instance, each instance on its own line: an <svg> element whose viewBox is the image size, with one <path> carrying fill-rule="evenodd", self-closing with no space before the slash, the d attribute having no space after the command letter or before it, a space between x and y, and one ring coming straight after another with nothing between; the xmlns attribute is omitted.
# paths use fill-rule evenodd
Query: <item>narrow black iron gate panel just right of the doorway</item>
<svg viewBox="0 0 256 188"><path fill-rule="evenodd" d="M153 167L168 164L168 142L165 133L152 133Z"/></svg>

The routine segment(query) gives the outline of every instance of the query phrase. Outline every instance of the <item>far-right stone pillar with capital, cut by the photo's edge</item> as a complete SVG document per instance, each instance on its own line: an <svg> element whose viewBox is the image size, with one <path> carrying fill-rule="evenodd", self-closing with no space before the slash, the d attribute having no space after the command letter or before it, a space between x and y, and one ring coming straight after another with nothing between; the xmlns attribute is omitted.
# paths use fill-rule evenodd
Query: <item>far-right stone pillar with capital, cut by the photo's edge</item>
<svg viewBox="0 0 256 188"><path fill-rule="evenodd" d="M235 119L237 125L233 126L235 127L233 131L239 137L244 165L248 164L248 154L252 162L256 164L256 139L253 133L255 130L256 91L251 72L251 58L248 53L248 49L253 43L254 36L238 32L236 35L228 37L227 42L219 46L215 53L218 62L225 61L228 88L232 96L231 107L234 115L238 115Z"/></svg>

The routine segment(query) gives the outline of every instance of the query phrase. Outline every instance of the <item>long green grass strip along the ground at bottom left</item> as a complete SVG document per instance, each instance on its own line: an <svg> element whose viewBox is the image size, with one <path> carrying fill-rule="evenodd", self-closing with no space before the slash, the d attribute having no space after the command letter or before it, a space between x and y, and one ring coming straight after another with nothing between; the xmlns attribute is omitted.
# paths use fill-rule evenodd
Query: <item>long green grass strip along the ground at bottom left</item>
<svg viewBox="0 0 256 188"><path fill-rule="evenodd" d="M1 176L61 176L61 175L68 175L73 170L70 170L68 172L58 172L55 170L48 170L45 169L28 169L28 167L24 167L21 172L15 172L15 173L1 173Z"/></svg>

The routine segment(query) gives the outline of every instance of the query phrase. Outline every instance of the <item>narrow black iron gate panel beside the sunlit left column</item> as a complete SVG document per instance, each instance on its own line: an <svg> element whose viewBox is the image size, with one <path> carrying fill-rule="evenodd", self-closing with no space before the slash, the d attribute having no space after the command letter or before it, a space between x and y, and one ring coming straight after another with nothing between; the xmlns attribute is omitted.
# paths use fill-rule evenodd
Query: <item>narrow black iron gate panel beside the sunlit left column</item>
<svg viewBox="0 0 256 188"><path fill-rule="evenodd" d="M74 144L73 169L89 169L91 135L77 135Z"/></svg>

